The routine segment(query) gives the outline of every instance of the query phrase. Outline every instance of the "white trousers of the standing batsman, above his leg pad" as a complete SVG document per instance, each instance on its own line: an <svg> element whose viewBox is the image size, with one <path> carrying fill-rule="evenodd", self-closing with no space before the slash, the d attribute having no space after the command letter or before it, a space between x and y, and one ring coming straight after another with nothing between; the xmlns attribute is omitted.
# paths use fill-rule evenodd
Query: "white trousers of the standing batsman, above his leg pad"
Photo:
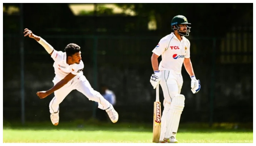
<svg viewBox="0 0 256 146"><path fill-rule="evenodd" d="M171 70L162 70L160 85L163 90L163 105L165 103L171 104L174 95L180 94L183 78L181 74L174 73Z"/></svg>

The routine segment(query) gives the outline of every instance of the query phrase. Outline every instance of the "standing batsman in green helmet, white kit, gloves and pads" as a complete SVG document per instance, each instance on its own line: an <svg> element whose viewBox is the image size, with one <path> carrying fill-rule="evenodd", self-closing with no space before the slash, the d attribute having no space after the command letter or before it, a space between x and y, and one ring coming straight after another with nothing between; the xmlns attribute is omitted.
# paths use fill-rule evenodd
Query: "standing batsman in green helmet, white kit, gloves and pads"
<svg viewBox="0 0 256 146"><path fill-rule="evenodd" d="M150 82L154 89L160 84L164 96L159 143L178 143L176 134L185 101L185 96L180 94L182 64L191 77L191 91L195 94L200 90L200 81L196 79L190 60L190 42L185 38L189 36L190 24L185 16L175 16L171 22L173 32L163 37L152 51L154 74ZM158 64L160 55L162 60Z"/></svg>

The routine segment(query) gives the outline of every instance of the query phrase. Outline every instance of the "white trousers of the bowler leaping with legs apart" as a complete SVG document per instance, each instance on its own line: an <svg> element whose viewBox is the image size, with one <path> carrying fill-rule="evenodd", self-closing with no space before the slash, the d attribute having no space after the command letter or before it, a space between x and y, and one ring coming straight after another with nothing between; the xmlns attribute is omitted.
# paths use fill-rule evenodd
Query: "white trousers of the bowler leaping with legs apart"
<svg viewBox="0 0 256 146"><path fill-rule="evenodd" d="M54 85L56 85L60 80L56 77L53 79ZM65 99L65 97L72 91L76 89L77 91L83 93L89 100L98 102L98 108L106 110L109 108L110 103L104 99L104 97L97 91L95 91L89 81L84 75L75 76L71 81L61 87L59 90L54 92L54 97L50 101L49 109L50 113L59 111L59 104Z"/></svg>

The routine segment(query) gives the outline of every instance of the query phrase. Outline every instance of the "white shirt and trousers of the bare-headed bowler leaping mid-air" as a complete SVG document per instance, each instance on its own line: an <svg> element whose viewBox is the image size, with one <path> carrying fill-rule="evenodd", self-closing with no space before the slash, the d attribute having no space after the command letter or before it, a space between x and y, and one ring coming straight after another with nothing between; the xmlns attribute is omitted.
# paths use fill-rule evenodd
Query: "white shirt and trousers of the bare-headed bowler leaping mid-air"
<svg viewBox="0 0 256 146"><path fill-rule="evenodd" d="M106 110L110 107L110 103L101 96L101 94L95 91L86 77L83 75L84 64L81 60L79 64L67 64L67 55L65 52L54 50L51 57L54 60L54 71L56 76L53 79L54 85L61 81L69 73L75 74L67 84L54 92L54 97L49 104L50 113L59 111L59 104L65 99L65 97L74 89L83 93L89 100L97 101L99 103L98 108Z"/></svg>

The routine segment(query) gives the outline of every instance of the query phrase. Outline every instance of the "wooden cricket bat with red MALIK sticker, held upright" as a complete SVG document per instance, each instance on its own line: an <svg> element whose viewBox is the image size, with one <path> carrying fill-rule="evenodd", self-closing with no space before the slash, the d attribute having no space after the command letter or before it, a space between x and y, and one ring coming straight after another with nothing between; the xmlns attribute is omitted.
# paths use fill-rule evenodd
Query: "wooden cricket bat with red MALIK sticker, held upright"
<svg viewBox="0 0 256 146"><path fill-rule="evenodd" d="M159 85L156 88L156 99L154 102L154 118L153 118L153 140L159 143L161 133L161 102L159 101Z"/></svg>

